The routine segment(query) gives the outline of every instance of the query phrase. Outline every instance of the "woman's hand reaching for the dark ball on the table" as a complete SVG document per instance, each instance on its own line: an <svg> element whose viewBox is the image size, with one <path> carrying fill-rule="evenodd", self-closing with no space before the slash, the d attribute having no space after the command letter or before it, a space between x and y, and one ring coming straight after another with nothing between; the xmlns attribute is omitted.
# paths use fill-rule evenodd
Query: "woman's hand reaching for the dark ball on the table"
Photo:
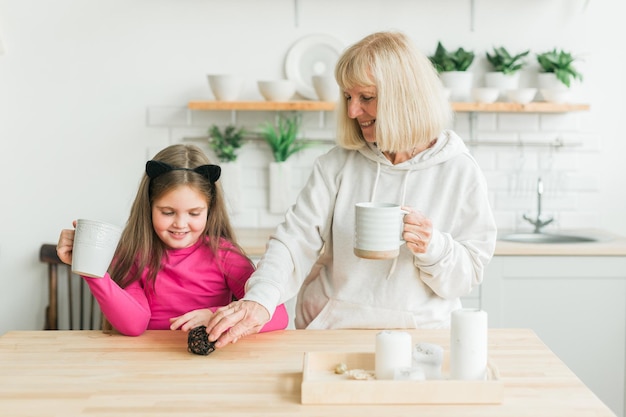
<svg viewBox="0 0 626 417"><path fill-rule="evenodd" d="M269 311L254 301L234 301L219 308L207 324L209 341L220 348L249 334L258 333L270 320Z"/></svg>

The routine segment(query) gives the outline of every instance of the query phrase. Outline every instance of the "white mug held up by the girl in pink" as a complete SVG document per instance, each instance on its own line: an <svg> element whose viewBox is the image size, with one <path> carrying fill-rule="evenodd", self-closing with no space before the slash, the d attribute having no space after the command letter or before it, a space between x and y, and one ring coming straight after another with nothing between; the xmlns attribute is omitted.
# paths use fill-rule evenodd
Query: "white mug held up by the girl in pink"
<svg viewBox="0 0 626 417"><path fill-rule="evenodd" d="M122 229L96 220L78 219L72 249L72 272L92 278L106 273Z"/></svg>

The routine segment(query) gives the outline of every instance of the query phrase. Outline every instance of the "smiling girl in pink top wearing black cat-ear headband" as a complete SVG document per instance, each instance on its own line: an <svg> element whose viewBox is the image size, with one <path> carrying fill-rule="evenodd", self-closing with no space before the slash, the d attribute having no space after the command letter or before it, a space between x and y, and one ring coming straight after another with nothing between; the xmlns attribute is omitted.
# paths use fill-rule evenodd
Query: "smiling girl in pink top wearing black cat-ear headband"
<svg viewBox="0 0 626 417"><path fill-rule="evenodd" d="M193 145L169 146L146 163L109 272L83 277L120 333L188 331L243 297L254 265L235 241L219 177L220 167ZM67 264L73 242L74 230L62 230L57 253ZM287 321L281 305L260 330Z"/></svg>

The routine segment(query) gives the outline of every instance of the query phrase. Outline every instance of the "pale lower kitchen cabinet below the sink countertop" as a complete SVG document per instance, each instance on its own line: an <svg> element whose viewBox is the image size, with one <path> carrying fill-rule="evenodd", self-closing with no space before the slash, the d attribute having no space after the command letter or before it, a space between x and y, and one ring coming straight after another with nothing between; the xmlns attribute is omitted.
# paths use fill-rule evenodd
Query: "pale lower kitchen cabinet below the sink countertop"
<svg viewBox="0 0 626 417"><path fill-rule="evenodd" d="M495 256L481 295L490 327L533 329L626 417L626 257Z"/></svg>

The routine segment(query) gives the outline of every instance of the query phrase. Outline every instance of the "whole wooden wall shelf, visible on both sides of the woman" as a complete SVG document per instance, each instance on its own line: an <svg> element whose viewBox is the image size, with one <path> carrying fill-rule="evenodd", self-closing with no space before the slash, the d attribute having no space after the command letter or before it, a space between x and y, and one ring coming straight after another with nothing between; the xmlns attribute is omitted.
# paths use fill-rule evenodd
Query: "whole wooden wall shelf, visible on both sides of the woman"
<svg viewBox="0 0 626 417"><path fill-rule="evenodd" d="M528 104L518 103L451 103L456 112L484 113L566 113L589 110L588 104L558 104L534 101ZM244 110L244 111L333 111L332 101L190 101L190 110Z"/></svg>

